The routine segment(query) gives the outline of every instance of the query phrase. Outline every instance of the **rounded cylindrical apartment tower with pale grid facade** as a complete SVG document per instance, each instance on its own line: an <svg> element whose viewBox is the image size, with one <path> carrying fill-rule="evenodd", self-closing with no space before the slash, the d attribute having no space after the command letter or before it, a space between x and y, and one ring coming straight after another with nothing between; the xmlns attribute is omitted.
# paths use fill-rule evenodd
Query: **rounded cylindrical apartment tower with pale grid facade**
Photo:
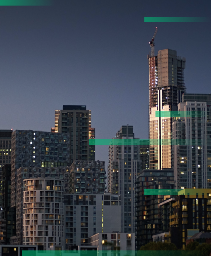
<svg viewBox="0 0 211 256"><path fill-rule="evenodd" d="M62 179L23 181L23 245L40 250L64 244L64 187Z"/></svg>

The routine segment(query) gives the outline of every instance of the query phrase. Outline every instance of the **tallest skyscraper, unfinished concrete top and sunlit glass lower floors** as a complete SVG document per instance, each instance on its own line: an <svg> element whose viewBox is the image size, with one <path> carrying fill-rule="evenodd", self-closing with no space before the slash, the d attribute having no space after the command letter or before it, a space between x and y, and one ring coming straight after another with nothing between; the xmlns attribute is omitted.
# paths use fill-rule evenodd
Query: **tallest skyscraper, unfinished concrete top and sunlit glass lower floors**
<svg viewBox="0 0 211 256"><path fill-rule="evenodd" d="M172 168L172 145L162 145L151 140L172 138L172 117L155 117L156 111L177 111L185 92L185 58L175 50L158 51L158 56L148 56L149 64L149 139L150 169Z"/></svg>

